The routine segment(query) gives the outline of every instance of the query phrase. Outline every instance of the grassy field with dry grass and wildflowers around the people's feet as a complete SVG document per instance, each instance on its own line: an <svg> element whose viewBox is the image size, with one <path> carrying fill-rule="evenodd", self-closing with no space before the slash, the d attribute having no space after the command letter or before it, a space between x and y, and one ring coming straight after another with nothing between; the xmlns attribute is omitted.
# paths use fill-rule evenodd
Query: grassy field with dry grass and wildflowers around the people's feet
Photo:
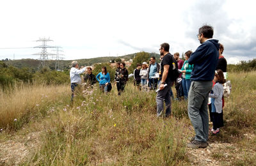
<svg viewBox="0 0 256 166"><path fill-rule="evenodd" d="M73 105L69 86L0 92L0 147L12 141L22 144L18 152L28 150L17 162L15 151L0 148L0 165L255 165L255 77L256 72L229 73L225 127L198 151L186 147L194 134L186 101L173 101L172 117L157 119L156 93L137 91L132 84L122 96L116 87L109 94L86 89ZM205 157L211 162L198 162Z"/></svg>

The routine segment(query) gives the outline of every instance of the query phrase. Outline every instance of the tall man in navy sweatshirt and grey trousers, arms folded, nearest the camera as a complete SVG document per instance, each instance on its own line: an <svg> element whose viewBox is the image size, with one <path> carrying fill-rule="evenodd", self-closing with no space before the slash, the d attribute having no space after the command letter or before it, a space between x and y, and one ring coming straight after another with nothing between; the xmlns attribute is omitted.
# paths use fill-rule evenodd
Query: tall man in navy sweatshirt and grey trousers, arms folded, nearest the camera
<svg viewBox="0 0 256 166"><path fill-rule="evenodd" d="M188 144L191 148L207 147L209 130L207 103L219 57L218 40L212 39L211 26L200 27L197 36L201 45L188 59L189 64L194 64L188 94L188 115L195 129L195 138Z"/></svg>

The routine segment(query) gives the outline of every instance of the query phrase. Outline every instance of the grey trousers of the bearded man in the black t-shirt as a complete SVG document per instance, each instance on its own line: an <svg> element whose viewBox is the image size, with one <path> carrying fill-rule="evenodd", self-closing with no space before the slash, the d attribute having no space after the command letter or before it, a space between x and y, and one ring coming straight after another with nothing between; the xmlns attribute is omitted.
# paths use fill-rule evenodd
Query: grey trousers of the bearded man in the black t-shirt
<svg viewBox="0 0 256 166"><path fill-rule="evenodd" d="M157 117L161 116L164 110L164 102L166 106L165 117L169 117L172 112L170 88L171 88L171 84L168 84L168 86L164 87L163 90L157 92L157 96L156 96Z"/></svg>

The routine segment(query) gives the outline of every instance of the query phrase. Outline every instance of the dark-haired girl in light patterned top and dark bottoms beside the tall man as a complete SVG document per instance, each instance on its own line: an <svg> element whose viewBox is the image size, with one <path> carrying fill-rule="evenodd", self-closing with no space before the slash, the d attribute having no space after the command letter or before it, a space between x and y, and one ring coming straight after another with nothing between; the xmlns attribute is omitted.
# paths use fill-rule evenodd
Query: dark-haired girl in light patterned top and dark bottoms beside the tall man
<svg viewBox="0 0 256 166"><path fill-rule="evenodd" d="M224 79L223 72L218 69L214 75L214 86L212 88L212 92L209 94L211 98L211 107L212 107L212 133L216 134L220 132L220 127L222 126L221 121L221 113L222 110L222 97L223 97L223 84L226 82Z"/></svg>

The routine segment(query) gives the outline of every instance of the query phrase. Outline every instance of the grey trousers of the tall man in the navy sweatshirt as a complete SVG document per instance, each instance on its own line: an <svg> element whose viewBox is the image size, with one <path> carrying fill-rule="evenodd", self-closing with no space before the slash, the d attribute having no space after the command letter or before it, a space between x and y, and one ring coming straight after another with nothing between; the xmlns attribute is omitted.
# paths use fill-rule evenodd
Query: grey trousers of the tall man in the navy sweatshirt
<svg viewBox="0 0 256 166"><path fill-rule="evenodd" d="M195 129L195 140L208 139L209 116L207 103L212 81L192 81L188 94L188 116Z"/></svg>

